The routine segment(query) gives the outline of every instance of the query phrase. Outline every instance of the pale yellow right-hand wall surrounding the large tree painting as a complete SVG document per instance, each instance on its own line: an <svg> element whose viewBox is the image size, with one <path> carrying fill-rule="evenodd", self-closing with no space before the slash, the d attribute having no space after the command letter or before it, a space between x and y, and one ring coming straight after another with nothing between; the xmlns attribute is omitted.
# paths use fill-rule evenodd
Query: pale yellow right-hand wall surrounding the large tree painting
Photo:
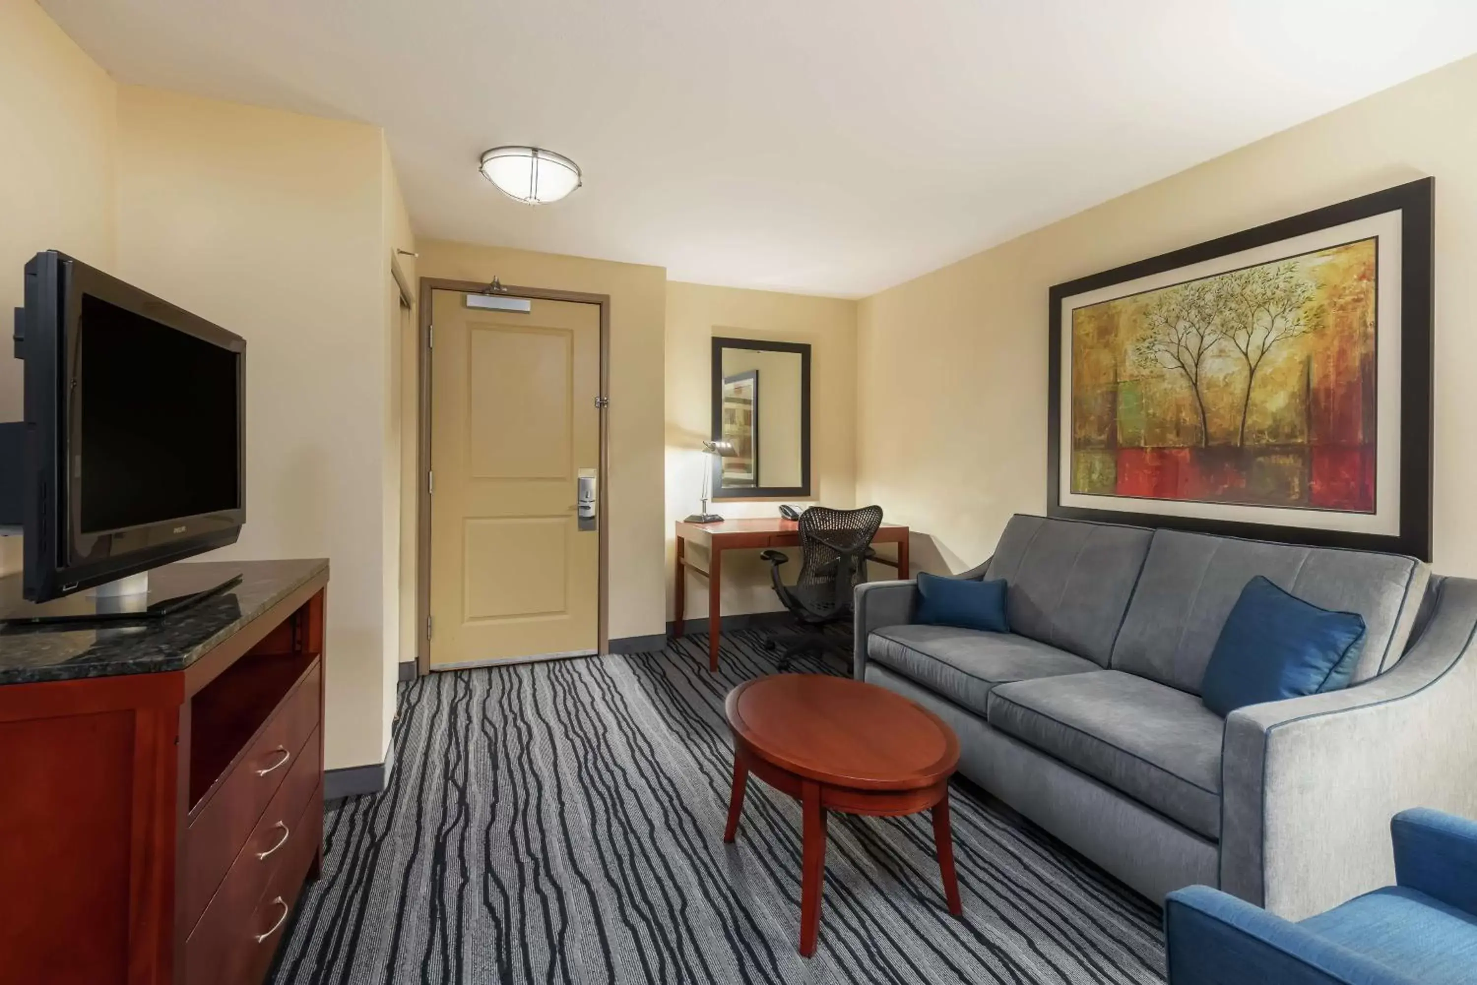
<svg viewBox="0 0 1477 985"><path fill-rule="evenodd" d="M858 499L926 569L1046 508L1046 301L1062 281L1436 176L1436 569L1477 574L1477 58L1385 90L861 304Z"/></svg>

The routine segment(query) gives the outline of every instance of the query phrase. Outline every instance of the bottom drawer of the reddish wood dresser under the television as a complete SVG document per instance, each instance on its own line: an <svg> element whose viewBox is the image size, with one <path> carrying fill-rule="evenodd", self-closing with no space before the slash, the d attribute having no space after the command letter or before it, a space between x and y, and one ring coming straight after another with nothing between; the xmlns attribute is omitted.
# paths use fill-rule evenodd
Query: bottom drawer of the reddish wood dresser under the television
<svg viewBox="0 0 1477 985"><path fill-rule="evenodd" d="M282 944L291 908L297 905L303 880L322 842L322 783L309 792L307 803L291 830L294 834L263 864L256 868L232 867L185 942L185 985L261 982ZM256 864L256 852L244 854L244 859Z"/></svg>

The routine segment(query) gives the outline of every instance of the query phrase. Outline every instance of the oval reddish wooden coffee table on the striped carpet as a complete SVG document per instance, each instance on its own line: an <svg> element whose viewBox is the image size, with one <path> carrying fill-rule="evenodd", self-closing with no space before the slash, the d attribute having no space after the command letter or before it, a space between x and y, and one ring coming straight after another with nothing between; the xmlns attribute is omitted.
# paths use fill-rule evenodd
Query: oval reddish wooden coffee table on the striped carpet
<svg viewBox="0 0 1477 985"><path fill-rule="evenodd" d="M826 812L897 817L933 809L933 845L948 911L963 914L948 828L954 730L876 684L820 673L777 673L728 693L734 787L724 840L733 842L749 774L796 797L803 811L801 954L815 953L826 871Z"/></svg>

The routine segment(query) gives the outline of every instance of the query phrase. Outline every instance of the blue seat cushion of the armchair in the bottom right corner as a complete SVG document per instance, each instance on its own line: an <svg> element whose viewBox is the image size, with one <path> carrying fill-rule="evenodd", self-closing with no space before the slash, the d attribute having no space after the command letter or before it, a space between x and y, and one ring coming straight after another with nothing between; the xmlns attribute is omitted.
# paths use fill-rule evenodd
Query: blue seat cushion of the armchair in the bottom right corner
<svg viewBox="0 0 1477 985"><path fill-rule="evenodd" d="M1470 984L1477 969L1477 916L1413 889L1385 886L1309 917L1303 926L1397 969L1402 981Z"/></svg>

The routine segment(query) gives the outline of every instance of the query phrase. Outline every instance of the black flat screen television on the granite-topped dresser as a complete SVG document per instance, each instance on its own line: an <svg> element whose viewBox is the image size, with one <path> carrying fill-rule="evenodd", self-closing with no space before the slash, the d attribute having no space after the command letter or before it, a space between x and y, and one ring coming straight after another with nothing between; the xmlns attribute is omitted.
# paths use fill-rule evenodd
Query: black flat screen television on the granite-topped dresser
<svg viewBox="0 0 1477 985"><path fill-rule="evenodd" d="M0 471L21 514L27 600L236 540L245 340L58 251L25 264L15 335L25 421L3 425Z"/></svg>

